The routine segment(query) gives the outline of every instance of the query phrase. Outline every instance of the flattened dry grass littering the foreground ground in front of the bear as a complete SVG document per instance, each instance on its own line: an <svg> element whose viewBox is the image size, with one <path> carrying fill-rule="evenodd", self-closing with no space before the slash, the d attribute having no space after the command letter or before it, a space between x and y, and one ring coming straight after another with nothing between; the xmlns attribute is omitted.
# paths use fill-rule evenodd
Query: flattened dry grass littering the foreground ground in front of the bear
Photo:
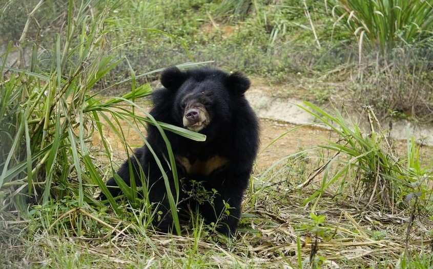
<svg viewBox="0 0 433 269"><path fill-rule="evenodd" d="M312 183L293 190L284 182L248 195L241 232L232 241L200 229L199 234L188 229L183 236L157 234L141 230L134 222L98 216L92 209L53 216L49 227L32 223L37 219L30 223L3 220L2 266L288 268L297 267L299 260L310 266L308 260L314 252L316 263L322 261L333 268L396 267L406 250L415 256L430 251L432 240L427 235L433 221L426 216L416 216L405 240L410 209L395 214L359 209L350 203L350 197L336 200L334 193L328 193L315 210L326 220L316 226L310 217L313 203L302 204L318 187ZM76 225L78 216L85 223L92 222L96 230L74 234L70 227ZM63 264L65 261L70 263Z"/></svg>

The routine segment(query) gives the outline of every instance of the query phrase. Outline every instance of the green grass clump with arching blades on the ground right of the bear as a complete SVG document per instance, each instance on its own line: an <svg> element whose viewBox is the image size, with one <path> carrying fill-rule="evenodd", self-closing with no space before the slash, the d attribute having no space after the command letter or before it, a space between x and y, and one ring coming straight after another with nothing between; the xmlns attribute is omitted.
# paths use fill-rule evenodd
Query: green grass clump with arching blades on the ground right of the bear
<svg viewBox="0 0 433 269"><path fill-rule="evenodd" d="M300 107L340 137L338 141L324 140L314 147L319 152L328 151L331 157L300 185L322 178L318 181L319 188L304 204L313 199L317 204L327 190L336 197L350 197L359 208L373 206L387 212L406 208L411 197L422 197L423 203L429 200L431 190L427 183L431 180L431 167L420 164L419 146L414 138L408 137L407 156L399 159L388 138L389 130L382 129L372 108L364 108L363 117L369 129L365 131L338 109L327 112L308 102Z"/></svg>

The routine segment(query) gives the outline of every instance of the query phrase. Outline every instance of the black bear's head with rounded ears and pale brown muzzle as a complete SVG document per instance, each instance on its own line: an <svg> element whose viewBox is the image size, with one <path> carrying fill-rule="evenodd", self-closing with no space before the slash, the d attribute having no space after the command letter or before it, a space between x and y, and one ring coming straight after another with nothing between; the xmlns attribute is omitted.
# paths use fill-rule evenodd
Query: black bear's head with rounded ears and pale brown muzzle
<svg viewBox="0 0 433 269"><path fill-rule="evenodd" d="M196 132L208 133L232 123L236 107L245 101L243 94L250 80L240 73L200 68L180 71L166 69L161 84L172 95L175 124Z"/></svg>

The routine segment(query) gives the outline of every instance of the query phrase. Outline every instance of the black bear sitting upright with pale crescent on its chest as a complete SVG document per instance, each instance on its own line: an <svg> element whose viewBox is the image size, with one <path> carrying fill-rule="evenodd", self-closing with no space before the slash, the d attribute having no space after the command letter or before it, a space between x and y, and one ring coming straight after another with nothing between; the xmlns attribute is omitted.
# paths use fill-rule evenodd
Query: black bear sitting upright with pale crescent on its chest
<svg viewBox="0 0 433 269"><path fill-rule="evenodd" d="M205 142L197 142L165 131L181 182L179 200L188 200L179 207L188 205L190 209L198 209L206 223L218 223L218 232L233 235L259 146L258 121L244 97L250 80L239 73L227 74L208 68L180 71L174 67L163 71L160 81L163 88L153 93L154 107L150 112L155 120L207 137ZM147 142L165 171L170 171L166 143L151 124L148 125ZM141 175L144 173L148 186L145 195L162 212L162 218L155 220L154 226L162 231L170 230L173 219L154 155L145 145L135 151L130 162L137 186L141 185L141 166ZM117 172L128 185L129 167L127 161ZM171 173L167 174L173 177ZM210 200L197 201L196 195L191 194L197 183L205 191L214 192L212 203ZM111 186L117 186L114 178L107 182L107 187L113 196L119 195L119 188ZM172 193L175 193L174 188ZM106 196L101 193L101 198Z"/></svg>

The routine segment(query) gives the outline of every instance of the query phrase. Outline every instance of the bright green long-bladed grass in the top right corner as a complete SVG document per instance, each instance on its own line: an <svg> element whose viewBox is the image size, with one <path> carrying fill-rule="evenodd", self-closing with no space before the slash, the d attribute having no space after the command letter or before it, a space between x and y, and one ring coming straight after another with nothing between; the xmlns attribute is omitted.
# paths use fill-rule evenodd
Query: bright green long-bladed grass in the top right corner
<svg viewBox="0 0 433 269"><path fill-rule="evenodd" d="M433 1L330 0L336 19L351 31L359 46L387 56L397 47L425 43L433 29Z"/></svg>

